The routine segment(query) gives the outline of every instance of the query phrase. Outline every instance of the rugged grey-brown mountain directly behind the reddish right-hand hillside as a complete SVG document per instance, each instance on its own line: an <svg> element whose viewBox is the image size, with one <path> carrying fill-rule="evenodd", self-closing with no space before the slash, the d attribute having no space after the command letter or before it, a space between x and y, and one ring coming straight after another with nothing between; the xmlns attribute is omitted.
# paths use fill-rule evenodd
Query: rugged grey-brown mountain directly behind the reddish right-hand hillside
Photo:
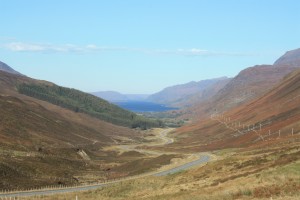
<svg viewBox="0 0 300 200"><path fill-rule="evenodd" d="M195 120L205 119L211 113L224 112L247 103L265 94L295 69L294 66L273 65L246 68L207 101L184 110L183 112L186 113L184 116Z"/></svg>

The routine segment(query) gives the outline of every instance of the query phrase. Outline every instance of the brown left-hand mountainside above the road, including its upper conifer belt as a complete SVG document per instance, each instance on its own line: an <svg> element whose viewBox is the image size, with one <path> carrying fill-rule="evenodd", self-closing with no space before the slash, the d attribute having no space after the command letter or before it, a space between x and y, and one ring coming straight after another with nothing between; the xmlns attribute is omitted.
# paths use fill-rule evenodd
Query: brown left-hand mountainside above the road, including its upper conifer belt
<svg viewBox="0 0 300 200"><path fill-rule="evenodd" d="M20 86L29 86L31 94L19 93ZM49 96L56 102L47 101ZM90 96L0 71L0 188L70 185L89 181L95 173L97 179L104 179L105 170L116 160L118 165L125 162L104 149L139 139L139 131L105 122L84 110L75 112L69 106L80 103L79 109L89 111L98 105L107 109L107 116L117 111L124 119L132 113Z"/></svg>

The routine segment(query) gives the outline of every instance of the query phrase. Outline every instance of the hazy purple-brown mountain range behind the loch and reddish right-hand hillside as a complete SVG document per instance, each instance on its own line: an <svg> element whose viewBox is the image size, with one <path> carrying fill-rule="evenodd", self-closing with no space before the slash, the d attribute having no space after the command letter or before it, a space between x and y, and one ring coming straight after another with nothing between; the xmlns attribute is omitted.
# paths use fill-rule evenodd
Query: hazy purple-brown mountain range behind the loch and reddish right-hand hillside
<svg viewBox="0 0 300 200"><path fill-rule="evenodd" d="M273 65L256 65L236 77L192 81L167 87L151 95L126 95L114 91L93 93L110 102L149 101L195 116L205 117L208 110L228 110L255 99L270 90L285 75L299 67L300 49L286 52ZM189 114L188 114L189 113Z"/></svg>

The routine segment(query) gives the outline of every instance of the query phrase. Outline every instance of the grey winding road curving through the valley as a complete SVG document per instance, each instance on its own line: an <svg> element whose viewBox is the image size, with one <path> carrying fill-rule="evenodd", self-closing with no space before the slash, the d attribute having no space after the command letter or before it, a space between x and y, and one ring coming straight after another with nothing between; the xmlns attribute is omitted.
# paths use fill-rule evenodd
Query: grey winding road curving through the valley
<svg viewBox="0 0 300 200"><path fill-rule="evenodd" d="M166 145L166 144L171 144L174 142L174 139L169 138L167 135L169 132L171 132L172 129L164 129L158 134L158 138L162 141L159 144L152 144L150 146L158 146L158 145ZM121 145L121 149L123 150L137 150L135 149L139 145ZM148 153L154 153L155 151L148 151L148 150L141 150L141 151L147 151ZM155 154L159 154L156 152ZM42 196L42 195L53 195L53 194L60 194L60 193L70 193L70 192L79 192L79 191L87 191L87 190L95 190L99 189L105 186L109 186L114 183L126 181L126 180L133 180L133 179L138 179L142 177L147 177L147 176L166 176L169 174L174 174L179 171L187 170L189 168L195 167L197 165L205 164L209 162L211 159L210 154L201 154L197 155L198 159L194 161L187 162L185 164L182 164L180 166L174 167L172 169L167 169L164 171L160 172L151 172L151 173L146 173L142 174L139 176L132 176L132 177L127 177L124 179L116 180L116 181L110 181L106 183L98 183L94 185L87 185L87 186L78 186L78 187L67 187L67 188L55 188L55 189L41 189L41 190L32 190L32 191L20 191L20 192L10 192L10 193L0 193L0 199L2 198L14 198L14 197L29 197L29 196Z"/></svg>

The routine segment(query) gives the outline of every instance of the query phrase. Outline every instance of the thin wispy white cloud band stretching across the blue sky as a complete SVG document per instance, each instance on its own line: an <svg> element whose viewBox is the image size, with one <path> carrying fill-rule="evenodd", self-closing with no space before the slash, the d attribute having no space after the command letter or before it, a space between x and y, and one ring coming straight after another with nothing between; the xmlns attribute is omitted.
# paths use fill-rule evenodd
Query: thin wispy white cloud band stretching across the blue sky
<svg viewBox="0 0 300 200"><path fill-rule="evenodd" d="M130 47L109 47L88 44L79 46L74 44L54 45L39 43L11 42L4 45L4 48L14 52L41 52L41 53L90 53L105 51L124 51L138 52L154 55L181 55L181 56L246 56L249 54L235 52L217 52L199 48L190 49L146 49L146 48L130 48Z"/></svg>

